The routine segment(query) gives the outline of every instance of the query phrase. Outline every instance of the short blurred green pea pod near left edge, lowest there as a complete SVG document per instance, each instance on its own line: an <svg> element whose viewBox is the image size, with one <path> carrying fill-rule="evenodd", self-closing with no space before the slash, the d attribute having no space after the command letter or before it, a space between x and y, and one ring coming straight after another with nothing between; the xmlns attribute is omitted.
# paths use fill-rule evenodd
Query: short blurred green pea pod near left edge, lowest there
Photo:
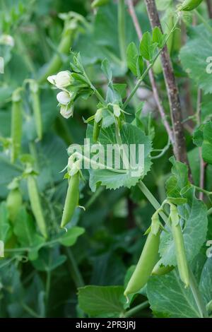
<svg viewBox="0 0 212 332"><path fill-rule="evenodd" d="M16 215L18 215L22 203L23 199L20 190L18 188L11 190L6 198L6 206L8 208L9 219L12 222L16 220Z"/></svg>

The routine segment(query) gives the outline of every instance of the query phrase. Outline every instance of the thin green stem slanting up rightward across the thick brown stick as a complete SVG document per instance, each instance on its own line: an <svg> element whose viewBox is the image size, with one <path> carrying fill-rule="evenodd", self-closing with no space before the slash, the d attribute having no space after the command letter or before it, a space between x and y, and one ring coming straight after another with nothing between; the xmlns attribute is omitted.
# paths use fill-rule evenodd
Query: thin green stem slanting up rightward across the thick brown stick
<svg viewBox="0 0 212 332"><path fill-rule="evenodd" d="M170 31L170 33L167 35L164 45L166 45L167 41L170 38L170 35L172 35L172 33L175 31L175 28L177 27L177 23L179 22L179 16L175 22L175 24L173 25L172 30ZM138 90L141 82L143 81L144 78L146 78L148 72L150 71L150 69L153 67L153 64L155 63L155 61L158 59L160 53L163 51L163 47L159 50L158 54L155 55L155 57L153 58L153 61L151 61L151 63L148 65L148 67L146 68L146 70L143 72L143 74L141 75L141 77L139 78L139 80L137 81L136 85L134 86L134 89L131 90L131 93L129 94L129 96L126 98L124 105L123 105L123 109L126 108L126 106L129 104L131 98L134 96L134 94L136 93L136 91Z"/></svg>

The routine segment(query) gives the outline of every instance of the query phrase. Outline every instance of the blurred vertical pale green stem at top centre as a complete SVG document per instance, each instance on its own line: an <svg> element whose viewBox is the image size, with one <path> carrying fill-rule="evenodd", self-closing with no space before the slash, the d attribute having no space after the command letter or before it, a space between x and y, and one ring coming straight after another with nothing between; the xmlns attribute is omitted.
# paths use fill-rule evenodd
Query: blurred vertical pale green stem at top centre
<svg viewBox="0 0 212 332"><path fill-rule="evenodd" d="M118 3L118 33L119 33L119 51L122 61L126 60L126 43L125 43L125 6L124 0Z"/></svg>

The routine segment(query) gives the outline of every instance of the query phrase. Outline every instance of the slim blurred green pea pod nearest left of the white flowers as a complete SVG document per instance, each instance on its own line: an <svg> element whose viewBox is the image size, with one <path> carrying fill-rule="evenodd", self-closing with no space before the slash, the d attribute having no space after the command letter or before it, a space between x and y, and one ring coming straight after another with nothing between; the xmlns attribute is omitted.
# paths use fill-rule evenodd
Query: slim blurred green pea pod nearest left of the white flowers
<svg viewBox="0 0 212 332"><path fill-rule="evenodd" d="M30 82L31 100L33 104L33 113L35 117L35 127L37 138L42 139L42 117L40 109L39 87L35 81Z"/></svg>

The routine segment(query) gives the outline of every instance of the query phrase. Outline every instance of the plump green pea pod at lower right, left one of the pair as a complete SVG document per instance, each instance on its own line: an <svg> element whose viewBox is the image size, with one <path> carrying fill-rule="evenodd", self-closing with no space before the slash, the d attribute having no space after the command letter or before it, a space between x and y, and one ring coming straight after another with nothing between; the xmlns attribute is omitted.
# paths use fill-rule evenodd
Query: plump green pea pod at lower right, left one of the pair
<svg viewBox="0 0 212 332"><path fill-rule="evenodd" d="M143 286L146 285L155 263L158 261L159 243L160 232L158 232L157 235L150 232L146 239L146 243L143 247L136 269L131 276L128 285L126 286L126 290L124 291L125 296L138 292Z"/></svg>

